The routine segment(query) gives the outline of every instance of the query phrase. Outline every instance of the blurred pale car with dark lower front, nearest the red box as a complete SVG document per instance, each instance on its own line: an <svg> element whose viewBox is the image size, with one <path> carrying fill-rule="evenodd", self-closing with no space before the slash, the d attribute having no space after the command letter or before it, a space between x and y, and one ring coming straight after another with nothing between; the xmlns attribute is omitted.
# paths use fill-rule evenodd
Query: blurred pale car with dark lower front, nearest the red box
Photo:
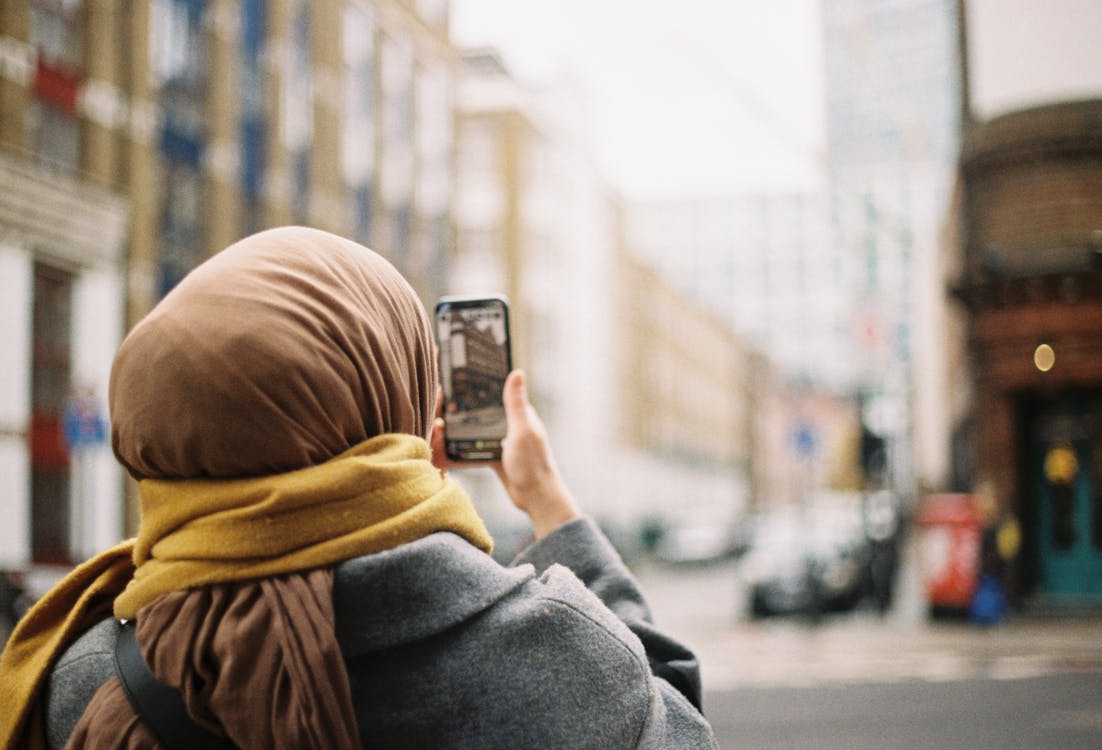
<svg viewBox="0 0 1102 750"><path fill-rule="evenodd" d="M854 608L866 590L866 554L861 515L850 509L759 518L739 567L750 616Z"/></svg>

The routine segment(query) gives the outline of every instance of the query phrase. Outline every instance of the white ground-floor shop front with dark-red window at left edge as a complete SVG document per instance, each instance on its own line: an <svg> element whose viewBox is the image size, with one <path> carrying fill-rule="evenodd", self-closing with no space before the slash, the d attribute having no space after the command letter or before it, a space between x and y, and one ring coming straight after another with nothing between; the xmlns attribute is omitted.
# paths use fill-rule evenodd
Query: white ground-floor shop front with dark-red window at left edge
<svg viewBox="0 0 1102 750"><path fill-rule="evenodd" d="M32 594L123 532L106 406L126 227L119 196L0 151L0 570Z"/></svg>

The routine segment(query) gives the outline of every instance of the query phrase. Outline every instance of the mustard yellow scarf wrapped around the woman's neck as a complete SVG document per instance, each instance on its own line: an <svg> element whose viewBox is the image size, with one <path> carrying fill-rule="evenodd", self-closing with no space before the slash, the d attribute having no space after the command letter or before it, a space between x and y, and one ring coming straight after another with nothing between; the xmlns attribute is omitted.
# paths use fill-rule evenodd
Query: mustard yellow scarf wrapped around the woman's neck
<svg viewBox="0 0 1102 750"><path fill-rule="evenodd" d="M334 565L437 531L491 547L466 492L411 435L270 477L147 479L140 497L138 537L77 567L12 633L0 656L0 748L45 747L45 678L112 599L116 617L130 619L169 591Z"/></svg>

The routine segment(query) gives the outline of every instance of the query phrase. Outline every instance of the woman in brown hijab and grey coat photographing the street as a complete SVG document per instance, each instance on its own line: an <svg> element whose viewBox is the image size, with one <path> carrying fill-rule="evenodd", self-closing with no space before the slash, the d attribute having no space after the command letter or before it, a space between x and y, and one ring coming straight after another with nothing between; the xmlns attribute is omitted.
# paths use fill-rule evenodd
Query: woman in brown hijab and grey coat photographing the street
<svg viewBox="0 0 1102 750"><path fill-rule="evenodd" d="M508 568L442 470L436 393L423 306L359 244L273 229L192 272L111 370L138 537L13 633L0 743L159 747L122 619L240 748L714 747L692 654L579 511L522 373L496 468L537 542Z"/></svg>

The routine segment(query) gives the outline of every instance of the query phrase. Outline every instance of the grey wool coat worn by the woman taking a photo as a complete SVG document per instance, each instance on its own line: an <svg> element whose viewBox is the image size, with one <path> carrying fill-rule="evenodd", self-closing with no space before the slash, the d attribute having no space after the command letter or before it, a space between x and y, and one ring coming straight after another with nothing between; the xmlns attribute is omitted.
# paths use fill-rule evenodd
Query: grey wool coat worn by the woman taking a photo
<svg viewBox="0 0 1102 750"><path fill-rule="evenodd" d="M365 748L716 748L695 657L588 519L510 567L433 534L341 564L333 596ZM114 676L117 632L105 620L55 666L52 748Z"/></svg>

